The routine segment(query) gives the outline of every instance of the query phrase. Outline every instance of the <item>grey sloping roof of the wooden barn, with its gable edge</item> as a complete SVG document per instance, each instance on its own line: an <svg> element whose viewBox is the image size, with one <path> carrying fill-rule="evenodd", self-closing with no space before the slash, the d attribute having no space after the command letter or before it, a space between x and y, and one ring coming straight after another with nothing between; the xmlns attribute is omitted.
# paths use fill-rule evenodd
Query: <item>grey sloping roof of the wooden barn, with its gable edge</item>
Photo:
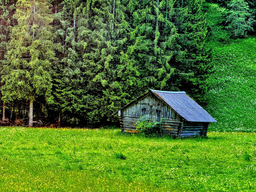
<svg viewBox="0 0 256 192"><path fill-rule="evenodd" d="M120 110L123 111L135 104L142 98L146 97L150 92L152 92L156 97L169 105L174 111L176 111L180 116L182 116L187 121L193 122L217 122L212 116L207 113L200 105L192 100L184 91L172 92L172 91L159 91L159 90L148 90L137 99L125 105ZM117 113L117 112L116 112ZM115 114L116 114L115 113Z"/></svg>

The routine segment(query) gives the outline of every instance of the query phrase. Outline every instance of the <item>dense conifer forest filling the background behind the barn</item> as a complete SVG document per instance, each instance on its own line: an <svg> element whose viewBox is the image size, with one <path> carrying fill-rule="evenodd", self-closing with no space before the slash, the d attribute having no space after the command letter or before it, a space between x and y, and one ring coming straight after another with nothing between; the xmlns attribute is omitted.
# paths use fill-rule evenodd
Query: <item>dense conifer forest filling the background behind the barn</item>
<svg viewBox="0 0 256 192"><path fill-rule="evenodd" d="M148 89L207 107L214 42L255 49L255 18L255 0L0 0L1 122L108 123Z"/></svg>

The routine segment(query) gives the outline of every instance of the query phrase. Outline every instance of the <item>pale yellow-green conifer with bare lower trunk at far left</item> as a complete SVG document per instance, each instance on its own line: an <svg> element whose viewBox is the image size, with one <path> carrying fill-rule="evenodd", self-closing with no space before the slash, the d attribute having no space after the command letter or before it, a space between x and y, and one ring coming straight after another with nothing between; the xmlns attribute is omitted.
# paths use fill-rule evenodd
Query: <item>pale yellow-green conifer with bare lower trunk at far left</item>
<svg viewBox="0 0 256 192"><path fill-rule="evenodd" d="M29 126L33 126L33 101L44 95L51 102L51 61L54 60L49 3L18 0L18 25L13 27L3 65L3 100L30 101Z"/></svg>

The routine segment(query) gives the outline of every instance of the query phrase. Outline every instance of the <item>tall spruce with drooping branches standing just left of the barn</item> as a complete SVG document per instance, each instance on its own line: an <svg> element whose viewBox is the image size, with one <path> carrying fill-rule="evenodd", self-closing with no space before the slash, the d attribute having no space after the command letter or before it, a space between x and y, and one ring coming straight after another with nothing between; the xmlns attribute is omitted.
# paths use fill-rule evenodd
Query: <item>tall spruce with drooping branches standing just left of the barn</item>
<svg viewBox="0 0 256 192"><path fill-rule="evenodd" d="M116 109L114 103L123 100L118 81L127 28L123 10L120 0L88 1L83 8L84 25L77 29L77 38L86 43L79 55L83 58L84 119L89 123L106 120Z"/></svg>

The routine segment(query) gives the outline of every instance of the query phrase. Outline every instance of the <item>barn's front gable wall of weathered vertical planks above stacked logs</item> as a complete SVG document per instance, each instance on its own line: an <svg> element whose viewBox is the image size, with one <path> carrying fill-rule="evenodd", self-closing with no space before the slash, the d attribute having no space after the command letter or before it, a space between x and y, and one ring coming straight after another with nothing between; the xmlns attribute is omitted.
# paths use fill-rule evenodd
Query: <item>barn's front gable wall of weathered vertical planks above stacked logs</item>
<svg viewBox="0 0 256 192"><path fill-rule="evenodd" d="M141 116L151 121L165 118L161 123L161 129L166 134L177 136L179 129L182 128L180 116L158 97L149 94L123 110L120 119L122 131L136 133L136 122Z"/></svg>

